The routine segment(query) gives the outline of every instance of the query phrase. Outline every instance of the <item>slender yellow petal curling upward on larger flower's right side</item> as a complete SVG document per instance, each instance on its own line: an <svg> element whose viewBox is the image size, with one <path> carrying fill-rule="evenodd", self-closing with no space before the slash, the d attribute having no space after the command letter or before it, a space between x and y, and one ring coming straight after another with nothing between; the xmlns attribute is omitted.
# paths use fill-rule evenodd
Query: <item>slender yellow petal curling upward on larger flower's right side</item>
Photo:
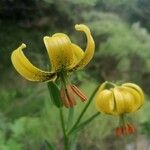
<svg viewBox="0 0 150 150"><path fill-rule="evenodd" d="M79 62L72 68L72 70L82 69L83 67L85 67L92 59L95 51L95 43L91 35L90 29L84 24L75 25L75 29L85 32L87 37L87 46L84 55L79 60Z"/></svg>

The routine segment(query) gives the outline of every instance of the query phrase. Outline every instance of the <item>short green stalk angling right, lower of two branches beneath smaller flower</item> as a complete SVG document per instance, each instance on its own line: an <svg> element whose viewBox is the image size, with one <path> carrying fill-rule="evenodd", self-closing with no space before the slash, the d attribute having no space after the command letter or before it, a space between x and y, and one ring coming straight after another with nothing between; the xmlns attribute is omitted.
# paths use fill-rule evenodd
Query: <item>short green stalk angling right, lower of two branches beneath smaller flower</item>
<svg viewBox="0 0 150 150"><path fill-rule="evenodd" d="M86 125L88 125L89 123L91 123L91 121L93 119L95 119L98 115L100 115L100 112L96 112L94 115L92 115L86 121L84 121L81 124L79 124L72 132L70 132L70 134L72 134L74 132L78 132L79 130L83 129Z"/></svg>

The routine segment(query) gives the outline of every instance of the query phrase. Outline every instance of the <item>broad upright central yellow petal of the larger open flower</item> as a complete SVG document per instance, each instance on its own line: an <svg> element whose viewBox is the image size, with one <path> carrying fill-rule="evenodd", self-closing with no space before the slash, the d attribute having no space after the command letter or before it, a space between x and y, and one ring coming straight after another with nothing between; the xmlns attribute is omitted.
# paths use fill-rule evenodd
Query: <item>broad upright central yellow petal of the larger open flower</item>
<svg viewBox="0 0 150 150"><path fill-rule="evenodd" d="M66 34L56 33L52 37L45 36L44 43L51 61L52 71L66 70L73 64L71 41Z"/></svg>

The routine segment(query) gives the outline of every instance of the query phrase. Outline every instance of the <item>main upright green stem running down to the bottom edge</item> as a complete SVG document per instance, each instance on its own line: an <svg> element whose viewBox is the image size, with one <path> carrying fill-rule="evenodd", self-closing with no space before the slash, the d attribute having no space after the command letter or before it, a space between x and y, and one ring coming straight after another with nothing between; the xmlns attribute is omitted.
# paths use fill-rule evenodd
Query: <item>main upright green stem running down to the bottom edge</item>
<svg viewBox="0 0 150 150"><path fill-rule="evenodd" d="M60 120L61 120L61 127L62 127L62 131L63 131L63 136L64 136L64 148L65 150L69 150L69 141L68 141L68 137L66 135L66 131L65 131L65 122L64 122L64 116L63 116L63 111L62 108L59 108L59 113L60 113Z"/></svg>

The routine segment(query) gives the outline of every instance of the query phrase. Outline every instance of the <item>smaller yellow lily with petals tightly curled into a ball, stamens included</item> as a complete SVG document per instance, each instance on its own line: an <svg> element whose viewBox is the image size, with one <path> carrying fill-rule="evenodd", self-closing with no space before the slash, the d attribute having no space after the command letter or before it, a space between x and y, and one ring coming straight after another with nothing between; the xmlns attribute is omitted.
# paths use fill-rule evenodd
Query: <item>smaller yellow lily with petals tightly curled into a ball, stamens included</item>
<svg viewBox="0 0 150 150"><path fill-rule="evenodd" d="M144 103L142 89L134 83L125 83L117 86L104 82L95 97L98 111L110 115L120 116L120 127L116 128L116 135L127 135L135 131L132 124L125 120L125 114L135 112Z"/></svg>

